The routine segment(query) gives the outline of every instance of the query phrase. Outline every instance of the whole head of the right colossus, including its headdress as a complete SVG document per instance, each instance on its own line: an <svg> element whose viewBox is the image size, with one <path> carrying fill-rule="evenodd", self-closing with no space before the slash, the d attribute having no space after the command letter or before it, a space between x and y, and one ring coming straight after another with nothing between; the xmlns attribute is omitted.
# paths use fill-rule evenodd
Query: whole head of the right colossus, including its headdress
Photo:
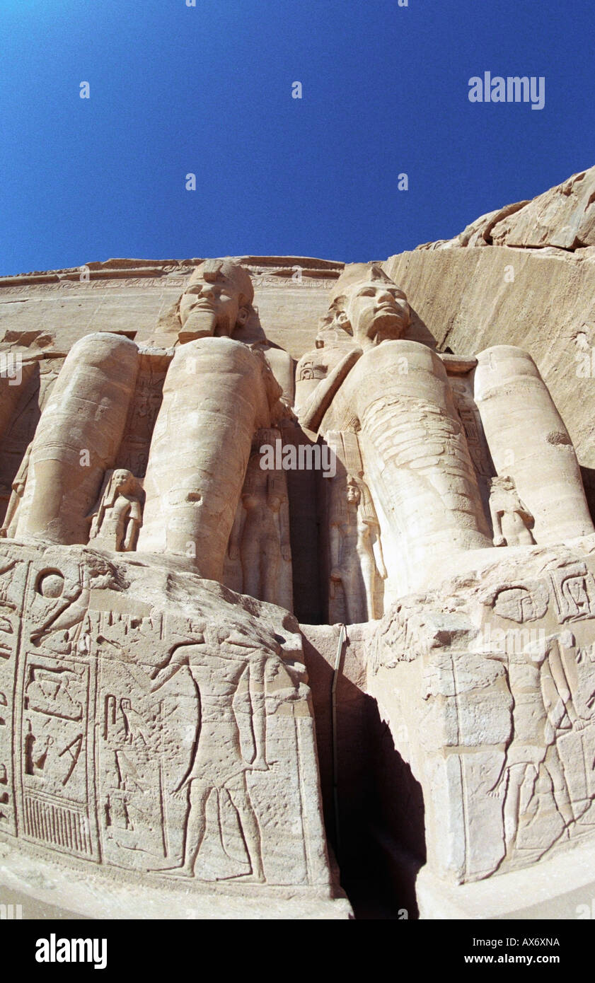
<svg viewBox="0 0 595 983"><path fill-rule="evenodd" d="M370 348L400 338L409 319L407 298L379 265L352 263L336 281L317 344L340 341L342 335L361 348Z"/></svg>

